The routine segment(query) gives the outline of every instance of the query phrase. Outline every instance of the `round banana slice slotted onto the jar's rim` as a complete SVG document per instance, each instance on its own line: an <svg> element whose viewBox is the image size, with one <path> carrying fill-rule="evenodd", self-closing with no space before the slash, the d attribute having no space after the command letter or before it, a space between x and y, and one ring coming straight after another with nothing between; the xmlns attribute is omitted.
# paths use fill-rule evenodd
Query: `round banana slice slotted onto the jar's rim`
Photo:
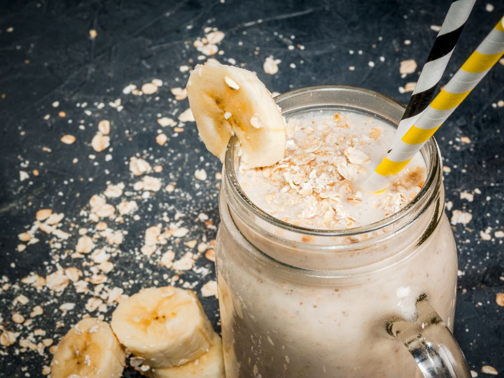
<svg viewBox="0 0 504 378"><path fill-rule="evenodd" d="M198 65L187 81L187 97L201 139L221 161L233 134L246 167L271 166L284 157L285 121L254 73L215 62Z"/></svg>

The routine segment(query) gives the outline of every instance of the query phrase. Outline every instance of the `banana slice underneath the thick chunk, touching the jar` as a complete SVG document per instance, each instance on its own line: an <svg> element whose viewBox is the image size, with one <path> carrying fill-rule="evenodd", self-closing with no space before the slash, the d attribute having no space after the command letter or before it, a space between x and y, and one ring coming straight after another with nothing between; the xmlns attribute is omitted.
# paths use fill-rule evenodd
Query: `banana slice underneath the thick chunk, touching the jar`
<svg viewBox="0 0 504 378"><path fill-rule="evenodd" d="M152 369L153 378L225 378L222 340L214 333L212 346L198 359L181 366Z"/></svg>

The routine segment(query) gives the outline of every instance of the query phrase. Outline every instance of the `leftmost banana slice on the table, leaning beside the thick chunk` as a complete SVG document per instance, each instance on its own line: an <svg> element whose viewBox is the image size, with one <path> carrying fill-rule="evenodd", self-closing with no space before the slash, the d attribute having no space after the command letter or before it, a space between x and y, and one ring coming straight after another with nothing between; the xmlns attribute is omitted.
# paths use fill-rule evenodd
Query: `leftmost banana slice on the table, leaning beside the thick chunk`
<svg viewBox="0 0 504 378"><path fill-rule="evenodd" d="M88 317L61 339L51 361L52 378L120 378L124 350L104 321Z"/></svg>

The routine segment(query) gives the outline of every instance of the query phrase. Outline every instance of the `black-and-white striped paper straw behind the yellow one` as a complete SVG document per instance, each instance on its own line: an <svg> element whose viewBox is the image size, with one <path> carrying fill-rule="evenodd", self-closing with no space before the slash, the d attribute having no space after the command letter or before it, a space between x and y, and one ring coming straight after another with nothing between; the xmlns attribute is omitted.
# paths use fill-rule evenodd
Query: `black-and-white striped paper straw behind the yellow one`
<svg viewBox="0 0 504 378"><path fill-rule="evenodd" d="M392 145L401 140L411 125L427 109L475 2L476 0L456 0L450 6L399 123Z"/></svg>

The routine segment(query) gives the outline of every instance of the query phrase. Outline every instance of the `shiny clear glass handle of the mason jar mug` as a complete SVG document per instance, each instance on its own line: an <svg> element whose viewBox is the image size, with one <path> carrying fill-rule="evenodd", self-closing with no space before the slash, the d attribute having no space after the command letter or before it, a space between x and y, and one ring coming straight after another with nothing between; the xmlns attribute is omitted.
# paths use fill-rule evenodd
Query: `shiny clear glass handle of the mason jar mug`
<svg viewBox="0 0 504 378"><path fill-rule="evenodd" d="M426 294L416 301L416 321L391 319L387 332L401 340L425 378L470 378L464 353Z"/></svg>

